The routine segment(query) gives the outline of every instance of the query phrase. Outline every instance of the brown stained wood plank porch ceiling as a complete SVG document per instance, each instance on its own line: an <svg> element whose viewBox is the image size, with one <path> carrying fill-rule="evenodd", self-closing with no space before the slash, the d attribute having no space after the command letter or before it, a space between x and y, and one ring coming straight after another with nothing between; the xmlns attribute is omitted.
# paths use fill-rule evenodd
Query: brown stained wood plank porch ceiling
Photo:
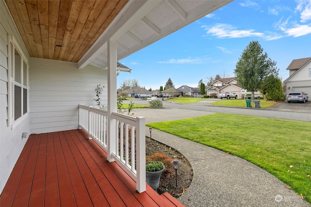
<svg viewBox="0 0 311 207"><path fill-rule="evenodd" d="M31 57L77 63L128 0L5 0Z"/></svg>

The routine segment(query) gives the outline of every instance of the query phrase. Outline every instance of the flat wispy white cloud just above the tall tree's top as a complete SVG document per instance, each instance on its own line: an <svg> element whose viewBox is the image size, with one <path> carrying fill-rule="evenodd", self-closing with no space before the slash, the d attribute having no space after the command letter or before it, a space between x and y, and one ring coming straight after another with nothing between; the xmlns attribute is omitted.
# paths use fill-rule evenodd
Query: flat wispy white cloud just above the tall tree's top
<svg viewBox="0 0 311 207"><path fill-rule="evenodd" d="M242 38L242 37L251 37L263 36L261 32L254 32L255 30L236 30L234 27L228 24L216 24L213 27L206 27L207 34L217 36L218 38Z"/></svg>

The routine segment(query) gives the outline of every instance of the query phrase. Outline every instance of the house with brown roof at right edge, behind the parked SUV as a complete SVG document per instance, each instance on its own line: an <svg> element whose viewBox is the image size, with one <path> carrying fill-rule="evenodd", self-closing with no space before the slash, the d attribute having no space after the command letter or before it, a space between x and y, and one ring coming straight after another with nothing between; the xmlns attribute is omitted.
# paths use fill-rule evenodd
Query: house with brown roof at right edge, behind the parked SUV
<svg viewBox="0 0 311 207"><path fill-rule="evenodd" d="M286 94L303 91L311 95L311 57L295 59L286 68L290 77L284 81Z"/></svg>

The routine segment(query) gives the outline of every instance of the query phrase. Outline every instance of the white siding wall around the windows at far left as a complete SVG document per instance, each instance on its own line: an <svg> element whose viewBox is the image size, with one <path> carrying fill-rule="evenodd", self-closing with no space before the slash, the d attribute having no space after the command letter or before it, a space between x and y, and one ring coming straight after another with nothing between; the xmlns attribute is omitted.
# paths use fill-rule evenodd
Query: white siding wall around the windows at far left
<svg viewBox="0 0 311 207"><path fill-rule="evenodd" d="M24 58L29 56L21 38L9 15L4 1L0 0L0 192L9 179L14 165L30 134L30 115L27 112L23 120L16 126L7 126L8 106L8 35L14 37L15 44L21 48ZM27 138L22 139L22 133L27 132Z"/></svg>

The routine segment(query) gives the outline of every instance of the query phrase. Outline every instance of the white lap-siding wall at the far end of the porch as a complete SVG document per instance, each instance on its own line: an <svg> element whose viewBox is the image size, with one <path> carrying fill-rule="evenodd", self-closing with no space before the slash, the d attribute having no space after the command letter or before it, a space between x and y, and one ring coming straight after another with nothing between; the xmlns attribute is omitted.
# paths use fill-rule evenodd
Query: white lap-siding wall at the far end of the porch
<svg viewBox="0 0 311 207"><path fill-rule="evenodd" d="M105 86L101 103L107 105L107 70L32 58L29 82L32 133L78 128L78 105L96 106L98 84Z"/></svg>

